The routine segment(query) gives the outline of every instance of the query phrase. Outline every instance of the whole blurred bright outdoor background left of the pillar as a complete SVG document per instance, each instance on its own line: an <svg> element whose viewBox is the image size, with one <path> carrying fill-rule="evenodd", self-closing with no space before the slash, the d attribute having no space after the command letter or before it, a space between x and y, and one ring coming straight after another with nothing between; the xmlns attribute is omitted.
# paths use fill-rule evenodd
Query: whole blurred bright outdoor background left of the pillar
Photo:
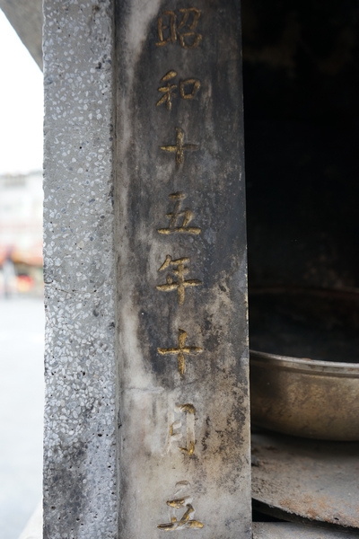
<svg viewBox="0 0 359 539"><path fill-rule="evenodd" d="M0 537L41 499L42 74L0 11Z"/></svg>

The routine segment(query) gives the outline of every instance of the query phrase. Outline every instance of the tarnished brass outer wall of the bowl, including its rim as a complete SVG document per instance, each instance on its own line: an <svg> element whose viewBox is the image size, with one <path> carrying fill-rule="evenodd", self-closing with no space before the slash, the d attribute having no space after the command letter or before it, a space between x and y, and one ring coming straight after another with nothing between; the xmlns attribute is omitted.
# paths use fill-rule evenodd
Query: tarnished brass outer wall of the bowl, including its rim
<svg viewBox="0 0 359 539"><path fill-rule="evenodd" d="M324 440L359 440L359 364L250 351L251 420Z"/></svg>

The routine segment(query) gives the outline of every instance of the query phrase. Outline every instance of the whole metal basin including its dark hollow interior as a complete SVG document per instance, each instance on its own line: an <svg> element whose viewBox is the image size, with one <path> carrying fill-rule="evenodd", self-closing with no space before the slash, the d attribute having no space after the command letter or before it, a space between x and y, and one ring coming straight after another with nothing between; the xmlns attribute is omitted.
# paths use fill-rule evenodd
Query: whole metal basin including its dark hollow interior
<svg viewBox="0 0 359 539"><path fill-rule="evenodd" d="M253 423L359 440L359 290L251 290L250 348Z"/></svg>

